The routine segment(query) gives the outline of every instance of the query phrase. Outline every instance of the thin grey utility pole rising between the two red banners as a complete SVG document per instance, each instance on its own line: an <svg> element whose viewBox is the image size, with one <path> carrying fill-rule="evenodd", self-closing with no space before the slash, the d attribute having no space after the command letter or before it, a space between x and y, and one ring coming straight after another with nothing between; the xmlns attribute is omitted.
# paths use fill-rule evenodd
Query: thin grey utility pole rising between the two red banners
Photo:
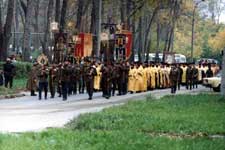
<svg viewBox="0 0 225 150"><path fill-rule="evenodd" d="M96 16L97 22L97 51L96 57L100 56L100 48L101 48L101 25L102 25L102 0L98 1L98 13Z"/></svg>

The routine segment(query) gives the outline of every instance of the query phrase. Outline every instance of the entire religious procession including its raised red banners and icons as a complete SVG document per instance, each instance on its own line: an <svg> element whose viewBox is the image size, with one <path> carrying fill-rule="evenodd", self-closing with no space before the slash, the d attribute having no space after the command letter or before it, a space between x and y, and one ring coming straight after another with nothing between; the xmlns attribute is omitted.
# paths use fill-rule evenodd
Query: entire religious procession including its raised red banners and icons
<svg viewBox="0 0 225 150"><path fill-rule="evenodd" d="M27 89L31 96L38 91L39 100L42 92L44 99L59 96L67 100L70 95L88 93L91 100L93 93L100 91L106 99L165 88L176 93L181 86L197 88L204 77L219 71L216 64L176 63L173 53L165 54L164 61L131 61L132 33L124 26L106 27L100 38L99 57L93 56L93 35L56 33L51 63L42 54L30 71Z"/></svg>

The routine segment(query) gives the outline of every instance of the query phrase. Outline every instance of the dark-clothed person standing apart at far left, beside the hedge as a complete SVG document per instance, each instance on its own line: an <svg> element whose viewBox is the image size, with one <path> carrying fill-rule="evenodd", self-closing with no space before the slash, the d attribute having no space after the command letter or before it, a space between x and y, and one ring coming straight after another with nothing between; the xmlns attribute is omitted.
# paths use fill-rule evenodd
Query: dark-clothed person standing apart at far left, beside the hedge
<svg viewBox="0 0 225 150"><path fill-rule="evenodd" d="M7 58L6 63L3 65L3 72L5 77L5 87L12 88L13 77L15 76L15 66L12 64L11 59Z"/></svg>

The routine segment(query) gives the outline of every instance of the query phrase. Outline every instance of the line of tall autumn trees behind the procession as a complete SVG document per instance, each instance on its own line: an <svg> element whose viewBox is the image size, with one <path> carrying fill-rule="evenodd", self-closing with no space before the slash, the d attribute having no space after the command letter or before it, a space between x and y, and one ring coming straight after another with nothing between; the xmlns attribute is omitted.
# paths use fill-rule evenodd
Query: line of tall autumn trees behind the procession
<svg viewBox="0 0 225 150"><path fill-rule="evenodd" d="M60 31L68 31L71 34L89 32L96 35L99 19L102 22L123 23L128 30L133 32L132 54L138 54L139 60L142 60L145 53L157 51L182 52L180 49L183 49L183 53L189 55L190 24L195 0L101 0L101 16L98 13L99 1L0 0L0 59L5 60L7 57L13 31L23 33L21 42L23 59L28 61L31 52L30 37L32 32L43 33L43 36L38 34L35 37L33 45L35 49L41 45L43 53L48 55L48 47L51 45L49 28L52 21L59 23ZM223 0L219 2L223 3ZM208 0L200 5L200 9L197 11L197 19L200 21L196 23L196 35L199 37L203 37L203 34L198 34L200 32L199 26L202 27L203 23L208 26L209 22L213 22L218 27L217 31L213 30L207 33L209 37L224 27L219 24L219 16L224 6L220 5L219 2ZM211 21L209 21L210 19ZM74 25L72 29L68 27L68 23L71 22ZM185 35L181 33L185 33ZM181 35L182 37L180 37ZM198 40L197 37L195 39ZM207 45L208 39L204 40L205 45ZM95 53L97 52L96 41L94 41ZM19 42L14 43L13 46L16 47ZM195 43L195 52L199 52L199 47L203 48L204 43L201 42L201 45L198 42ZM202 53L195 53L195 56L200 56ZM148 55L146 59L148 59Z"/></svg>

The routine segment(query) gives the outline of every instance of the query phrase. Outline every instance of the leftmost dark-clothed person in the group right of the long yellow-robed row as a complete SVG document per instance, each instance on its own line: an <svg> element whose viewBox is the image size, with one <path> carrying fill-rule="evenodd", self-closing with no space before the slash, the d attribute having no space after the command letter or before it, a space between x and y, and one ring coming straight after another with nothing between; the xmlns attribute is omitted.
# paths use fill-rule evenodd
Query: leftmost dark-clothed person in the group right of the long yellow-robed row
<svg viewBox="0 0 225 150"><path fill-rule="evenodd" d="M178 81L178 68L174 65L170 70L170 83L171 83L171 93L175 94L177 90L177 81Z"/></svg>

